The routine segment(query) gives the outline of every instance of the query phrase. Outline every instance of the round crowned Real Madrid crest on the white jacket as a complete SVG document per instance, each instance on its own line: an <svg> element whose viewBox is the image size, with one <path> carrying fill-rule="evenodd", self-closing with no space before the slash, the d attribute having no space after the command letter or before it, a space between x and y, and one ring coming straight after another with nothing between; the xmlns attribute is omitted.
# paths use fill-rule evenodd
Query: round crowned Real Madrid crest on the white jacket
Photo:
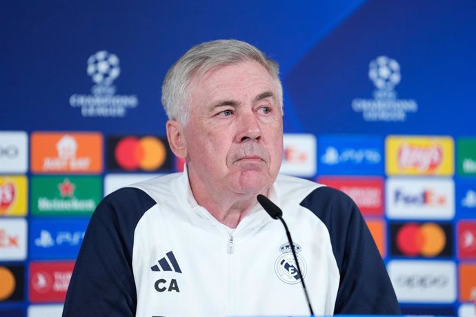
<svg viewBox="0 0 476 317"><path fill-rule="evenodd" d="M297 243L294 243L294 249L296 252L297 260L299 261L299 268L301 269L301 273L304 277L306 276L306 272L308 272L308 269L306 261L304 261L304 258L298 254L299 252L301 252L301 247ZM292 256L291 245L289 243L284 243L284 245L281 245L281 247L279 247L279 251L281 251L282 254L276 259L276 275L284 283L296 284L301 282L301 276L299 276L296 261L294 259L294 256Z"/></svg>

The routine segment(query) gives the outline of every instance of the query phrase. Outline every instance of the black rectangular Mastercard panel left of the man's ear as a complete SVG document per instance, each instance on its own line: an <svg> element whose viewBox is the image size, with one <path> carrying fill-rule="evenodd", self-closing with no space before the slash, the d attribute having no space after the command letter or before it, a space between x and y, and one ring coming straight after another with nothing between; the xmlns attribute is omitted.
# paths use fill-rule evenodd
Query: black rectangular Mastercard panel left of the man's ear
<svg viewBox="0 0 476 317"><path fill-rule="evenodd" d="M108 137L108 168L130 172L172 169L172 151L159 136Z"/></svg>

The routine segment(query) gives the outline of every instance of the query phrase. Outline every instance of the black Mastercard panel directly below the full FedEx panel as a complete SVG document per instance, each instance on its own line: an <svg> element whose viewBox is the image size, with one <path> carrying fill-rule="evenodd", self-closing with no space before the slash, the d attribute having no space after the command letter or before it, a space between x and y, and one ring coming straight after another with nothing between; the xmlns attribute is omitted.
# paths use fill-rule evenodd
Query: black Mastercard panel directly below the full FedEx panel
<svg viewBox="0 0 476 317"><path fill-rule="evenodd" d="M451 255L448 234L450 225L437 223L406 223L393 225L393 254L404 256Z"/></svg>

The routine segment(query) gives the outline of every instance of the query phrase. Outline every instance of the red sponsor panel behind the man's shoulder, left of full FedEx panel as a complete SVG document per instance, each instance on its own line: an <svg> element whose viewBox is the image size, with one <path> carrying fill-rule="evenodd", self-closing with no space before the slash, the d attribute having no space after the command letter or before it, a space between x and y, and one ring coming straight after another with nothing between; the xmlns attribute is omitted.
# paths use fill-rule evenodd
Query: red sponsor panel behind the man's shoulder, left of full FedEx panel
<svg viewBox="0 0 476 317"><path fill-rule="evenodd" d="M374 216L383 214L383 178L323 176L319 177L317 181L348 194L359 206L362 214Z"/></svg>

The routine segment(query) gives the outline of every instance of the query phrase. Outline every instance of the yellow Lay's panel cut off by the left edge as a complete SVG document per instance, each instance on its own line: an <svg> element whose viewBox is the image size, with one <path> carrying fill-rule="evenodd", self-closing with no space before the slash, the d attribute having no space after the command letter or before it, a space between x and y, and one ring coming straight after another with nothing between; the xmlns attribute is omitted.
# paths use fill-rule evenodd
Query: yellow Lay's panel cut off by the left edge
<svg viewBox="0 0 476 317"><path fill-rule="evenodd" d="M0 216L25 216L26 176L0 176Z"/></svg>

